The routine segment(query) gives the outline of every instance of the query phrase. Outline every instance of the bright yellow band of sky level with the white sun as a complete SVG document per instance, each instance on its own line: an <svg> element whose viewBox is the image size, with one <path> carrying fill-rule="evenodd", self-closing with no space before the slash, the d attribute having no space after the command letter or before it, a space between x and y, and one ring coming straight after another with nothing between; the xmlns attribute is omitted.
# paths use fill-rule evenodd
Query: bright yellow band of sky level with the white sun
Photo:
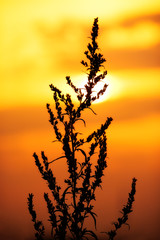
<svg viewBox="0 0 160 240"><path fill-rule="evenodd" d="M117 99L124 97L144 98L144 97L159 97L160 88L160 70L125 70L117 71L108 74L100 83L95 91L98 92L104 83L109 86L106 93L95 103L102 102L107 99ZM80 88L83 88L87 81L87 75L71 75L73 83ZM47 78L47 79L46 79ZM23 80L21 82L2 82L1 87L4 91L0 95L0 108L8 108L13 106L34 106L37 104L45 104L52 102L52 92L49 84L54 84L64 93L70 93L74 101L77 100L74 91L66 84L65 76L63 77L48 77L42 74L37 79L34 75L32 81Z"/></svg>

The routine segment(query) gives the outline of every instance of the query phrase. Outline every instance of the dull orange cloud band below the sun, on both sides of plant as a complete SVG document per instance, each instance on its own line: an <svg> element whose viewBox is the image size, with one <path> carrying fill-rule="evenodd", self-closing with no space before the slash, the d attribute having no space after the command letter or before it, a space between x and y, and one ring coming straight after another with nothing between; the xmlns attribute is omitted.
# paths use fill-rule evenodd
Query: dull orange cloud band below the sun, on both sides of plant
<svg viewBox="0 0 160 240"><path fill-rule="evenodd" d="M100 117L105 115L105 118L106 116L112 116L116 121L130 121L151 115L158 115L160 113L159 106L160 99L158 98L122 98L95 104L93 109ZM38 129L50 129L48 122L49 116L45 107L19 107L3 110L0 112L0 119L1 136L30 132ZM93 119L89 118L87 121L91 120Z"/></svg>

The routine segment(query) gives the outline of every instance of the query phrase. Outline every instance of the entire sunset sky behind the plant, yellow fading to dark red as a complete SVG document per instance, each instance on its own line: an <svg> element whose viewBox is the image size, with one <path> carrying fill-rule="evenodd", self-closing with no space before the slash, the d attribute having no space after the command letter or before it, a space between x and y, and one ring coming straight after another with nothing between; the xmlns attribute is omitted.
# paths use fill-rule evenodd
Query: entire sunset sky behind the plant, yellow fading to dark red
<svg viewBox="0 0 160 240"><path fill-rule="evenodd" d="M99 18L99 47L106 58L106 95L86 111L84 134L96 130L106 117L108 168L96 211L100 231L112 222L127 201L131 179L137 193L130 216L131 230L123 240L154 240L160 214L160 1L159 0L6 0L0 1L0 239L30 240L33 226L27 194L35 194L39 216L47 191L32 158L34 151L51 159L62 153L45 108L53 103L49 84L73 92L65 76L81 87L86 79L80 64L95 17ZM55 166L63 182L61 161ZM44 206L45 208L45 206ZM21 231L20 231L21 229ZM125 231L126 230L126 231ZM121 238L119 238L120 240Z"/></svg>

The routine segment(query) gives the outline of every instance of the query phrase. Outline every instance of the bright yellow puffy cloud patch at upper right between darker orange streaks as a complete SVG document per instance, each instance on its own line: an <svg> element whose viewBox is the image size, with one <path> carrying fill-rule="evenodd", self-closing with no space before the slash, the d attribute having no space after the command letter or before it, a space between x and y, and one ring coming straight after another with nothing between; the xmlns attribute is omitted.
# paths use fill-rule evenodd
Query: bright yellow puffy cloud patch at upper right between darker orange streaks
<svg viewBox="0 0 160 240"><path fill-rule="evenodd" d="M104 33L103 45L111 49L146 49L160 43L160 27L153 22L139 22L130 27L115 26Z"/></svg>

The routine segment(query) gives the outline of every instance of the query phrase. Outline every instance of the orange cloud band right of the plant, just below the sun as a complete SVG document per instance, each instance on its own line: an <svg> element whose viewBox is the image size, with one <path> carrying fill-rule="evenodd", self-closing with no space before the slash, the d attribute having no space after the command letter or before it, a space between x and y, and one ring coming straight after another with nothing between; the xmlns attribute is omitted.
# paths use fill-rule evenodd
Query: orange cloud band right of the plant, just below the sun
<svg viewBox="0 0 160 240"><path fill-rule="evenodd" d="M159 98L122 98L94 105L93 109L99 116L112 116L116 122L120 122L156 116L160 114L159 106Z"/></svg>

